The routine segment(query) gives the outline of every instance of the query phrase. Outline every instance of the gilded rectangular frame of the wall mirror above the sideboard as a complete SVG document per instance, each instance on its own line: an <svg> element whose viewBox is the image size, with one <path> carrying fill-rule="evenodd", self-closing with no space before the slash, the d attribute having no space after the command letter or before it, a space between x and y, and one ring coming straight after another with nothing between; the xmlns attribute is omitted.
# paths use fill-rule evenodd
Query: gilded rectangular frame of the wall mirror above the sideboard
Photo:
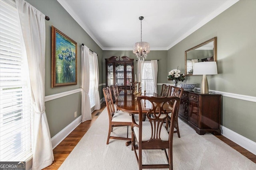
<svg viewBox="0 0 256 170"><path fill-rule="evenodd" d="M205 45L207 43L210 43L211 41L213 41L213 61L217 62L217 37L213 37L213 38L208 39L207 41L204 41L203 43L198 44L195 47L192 47L192 48L185 51L185 75L186 76L193 76L193 74L187 74L187 53L189 51L192 51L194 49L202 47L203 45Z"/></svg>

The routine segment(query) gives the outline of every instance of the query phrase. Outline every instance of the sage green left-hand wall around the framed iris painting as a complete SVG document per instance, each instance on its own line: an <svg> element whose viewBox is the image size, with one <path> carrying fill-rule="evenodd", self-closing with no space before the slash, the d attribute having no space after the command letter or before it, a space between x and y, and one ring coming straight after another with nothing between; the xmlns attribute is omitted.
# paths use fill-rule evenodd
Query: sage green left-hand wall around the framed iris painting
<svg viewBox="0 0 256 170"><path fill-rule="evenodd" d="M93 39L80 27L80 25L66 12L66 10L56 0L26 0L32 6L50 17L46 23L46 53L45 53L45 96L58 94L70 90L76 90L82 86L81 77L81 44L84 43L89 49L98 54L100 79L102 84L102 49ZM56 27L62 33L76 41L77 43L77 85L51 88L51 26ZM102 91L102 90L100 90ZM69 125L77 116L81 115L81 92L68 95L55 100L45 102L46 116L50 128L50 135L53 137Z"/></svg>

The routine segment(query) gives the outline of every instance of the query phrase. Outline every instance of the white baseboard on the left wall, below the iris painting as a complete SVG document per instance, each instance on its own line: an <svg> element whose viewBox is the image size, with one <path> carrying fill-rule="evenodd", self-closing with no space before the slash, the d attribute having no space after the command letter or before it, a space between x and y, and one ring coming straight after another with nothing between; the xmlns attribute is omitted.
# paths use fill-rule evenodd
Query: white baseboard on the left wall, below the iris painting
<svg viewBox="0 0 256 170"><path fill-rule="evenodd" d="M59 133L57 133L54 137L52 137L52 149L57 147L61 141L63 141L80 123L82 122L82 115L72 121L68 126L62 129Z"/></svg>

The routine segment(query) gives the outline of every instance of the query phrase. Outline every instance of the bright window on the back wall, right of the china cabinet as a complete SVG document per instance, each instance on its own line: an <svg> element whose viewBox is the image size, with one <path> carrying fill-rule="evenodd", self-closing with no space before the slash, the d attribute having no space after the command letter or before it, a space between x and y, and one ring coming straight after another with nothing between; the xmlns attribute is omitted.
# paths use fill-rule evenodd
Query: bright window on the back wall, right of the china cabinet
<svg viewBox="0 0 256 170"><path fill-rule="evenodd" d="M144 83L146 82L146 92L154 93L154 80L152 74L151 61L144 61L142 70L142 92L144 90Z"/></svg>

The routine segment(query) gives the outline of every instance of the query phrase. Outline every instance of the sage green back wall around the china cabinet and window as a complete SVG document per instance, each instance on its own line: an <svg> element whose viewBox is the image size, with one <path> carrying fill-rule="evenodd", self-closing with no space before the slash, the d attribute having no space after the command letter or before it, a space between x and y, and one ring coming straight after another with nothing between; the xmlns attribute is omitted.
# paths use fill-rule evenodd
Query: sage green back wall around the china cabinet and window
<svg viewBox="0 0 256 170"><path fill-rule="evenodd" d="M103 51L103 81L106 83L106 62L105 59L108 59L112 56L122 57L127 56L131 59L134 59L134 74L137 74L137 57L132 51ZM146 60L158 60L158 76L157 82L164 83L167 80L168 71L167 71L167 51L150 51ZM138 74L137 74L138 75ZM135 76L135 75L134 75ZM158 92L160 92L161 86L158 86Z"/></svg>

